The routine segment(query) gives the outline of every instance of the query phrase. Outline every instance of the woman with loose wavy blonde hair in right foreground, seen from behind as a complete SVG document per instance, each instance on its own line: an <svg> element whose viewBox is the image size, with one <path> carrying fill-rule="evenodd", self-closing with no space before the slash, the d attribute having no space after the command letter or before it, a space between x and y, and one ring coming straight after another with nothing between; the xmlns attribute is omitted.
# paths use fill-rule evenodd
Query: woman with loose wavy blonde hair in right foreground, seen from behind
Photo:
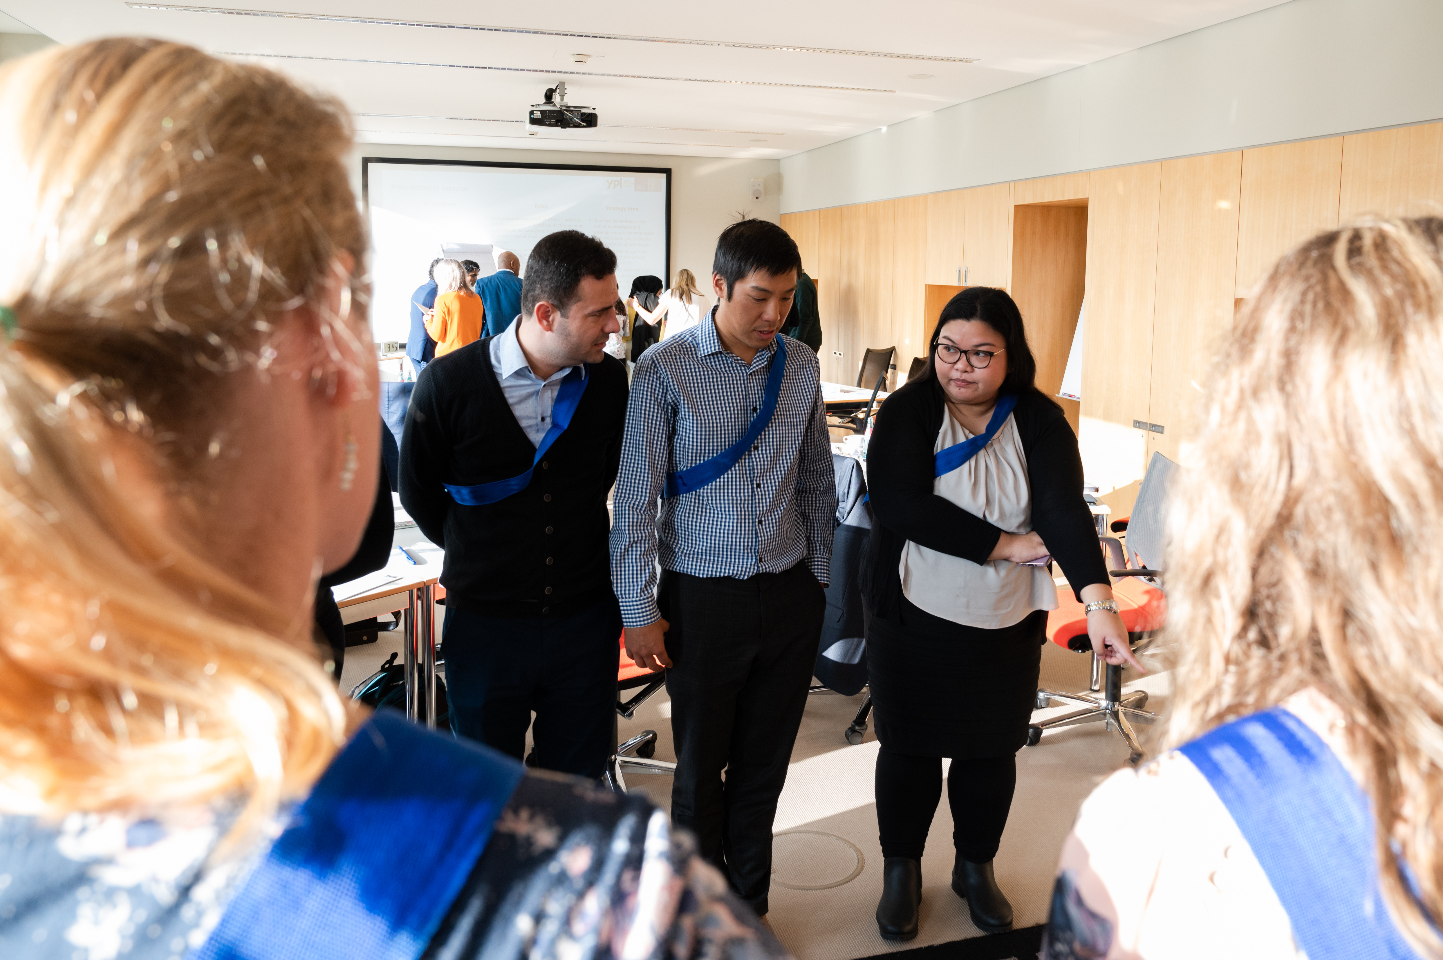
<svg viewBox="0 0 1443 960"><path fill-rule="evenodd" d="M1440 247L1361 221L1238 316L1173 495L1179 746L1082 806L1046 960L1443 956Z"/></svg>

